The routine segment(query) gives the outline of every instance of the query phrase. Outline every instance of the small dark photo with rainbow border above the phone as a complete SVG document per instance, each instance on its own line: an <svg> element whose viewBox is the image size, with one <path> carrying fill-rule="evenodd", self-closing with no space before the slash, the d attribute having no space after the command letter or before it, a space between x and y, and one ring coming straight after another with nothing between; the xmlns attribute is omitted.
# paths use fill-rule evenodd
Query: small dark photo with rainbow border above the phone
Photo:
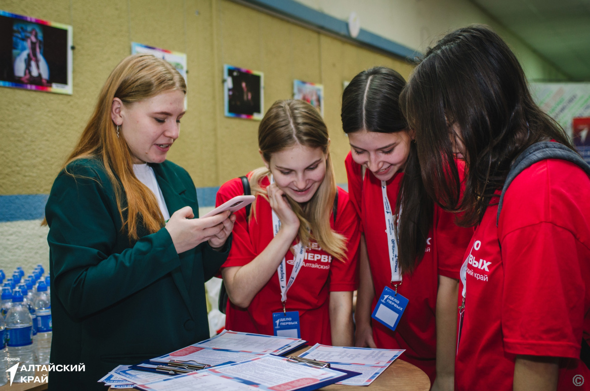
<svg viewBox="0 0 590 391"><path fill-rule="evenodd" d="M264 116L264 73L224 65L225 116L261 120Z"/></svg>

